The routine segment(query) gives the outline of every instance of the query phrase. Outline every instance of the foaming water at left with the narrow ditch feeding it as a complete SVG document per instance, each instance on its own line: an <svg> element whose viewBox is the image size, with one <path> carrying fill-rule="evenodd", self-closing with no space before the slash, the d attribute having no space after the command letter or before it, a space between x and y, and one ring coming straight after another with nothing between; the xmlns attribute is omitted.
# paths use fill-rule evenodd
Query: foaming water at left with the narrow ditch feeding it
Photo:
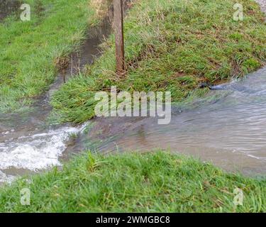
<svg viewBox="0 0 266 227"><path fill-rule="evenodd" d="M91 29L82 49L73 52L70 64L62 70L49 91L36 99L30 111L20 114L0 114L0 184L11 182L18 175L46 170L61 165L67 148L82 133L82 126L51 126L50 97L65 80L84 70L101 55L99 44L111 33L109 16L98 28ZM65 156L64 156L65 155Z"/></svg>

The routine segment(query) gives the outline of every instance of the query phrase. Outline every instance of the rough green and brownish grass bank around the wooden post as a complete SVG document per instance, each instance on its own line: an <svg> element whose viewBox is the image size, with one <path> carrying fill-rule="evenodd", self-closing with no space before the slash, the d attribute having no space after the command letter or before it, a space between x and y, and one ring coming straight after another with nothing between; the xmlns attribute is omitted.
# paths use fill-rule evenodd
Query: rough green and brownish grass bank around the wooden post
<svg viewBox="0 0 266 227"><path fill-rule="evenodd" d="M87 72L55 93L58 121L81 123L94 116L94 94L116 85L123 91L170 91L172 101L206 94L199 84L218 84L257 70L266 60L266 25L260 7L243 4L244 21L233 21L233 0L135 1L125 22L126 77L115 72L113 36Z"/></svg>

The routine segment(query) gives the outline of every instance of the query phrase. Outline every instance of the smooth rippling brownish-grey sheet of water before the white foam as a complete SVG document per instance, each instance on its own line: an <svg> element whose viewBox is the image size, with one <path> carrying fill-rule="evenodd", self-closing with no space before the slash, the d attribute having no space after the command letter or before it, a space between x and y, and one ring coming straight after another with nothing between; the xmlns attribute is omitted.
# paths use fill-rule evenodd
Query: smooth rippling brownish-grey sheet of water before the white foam
<svg viewBox="0 0 266 227"><path fill-rule="evenodd" d="M104 153L162 148L225 170L265 174L266 67L213 89L204 99L173 107L169 125L158 125L157 118L96 119L89 138L102 143L87 142L87 148Z"/></svg>

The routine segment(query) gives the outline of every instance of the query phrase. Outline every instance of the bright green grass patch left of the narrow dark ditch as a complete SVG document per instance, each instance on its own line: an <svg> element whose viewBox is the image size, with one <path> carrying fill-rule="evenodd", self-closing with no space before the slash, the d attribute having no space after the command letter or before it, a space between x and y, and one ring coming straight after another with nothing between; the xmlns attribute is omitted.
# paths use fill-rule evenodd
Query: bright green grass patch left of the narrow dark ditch
<svg viewBox="0 0 266 227"><path fill-rule="evenodd" d="M0 23L0 112L19 111L48 89L57 63L98 21L91 1L26 0L31 21L21 21L16 13Z"/></svg>

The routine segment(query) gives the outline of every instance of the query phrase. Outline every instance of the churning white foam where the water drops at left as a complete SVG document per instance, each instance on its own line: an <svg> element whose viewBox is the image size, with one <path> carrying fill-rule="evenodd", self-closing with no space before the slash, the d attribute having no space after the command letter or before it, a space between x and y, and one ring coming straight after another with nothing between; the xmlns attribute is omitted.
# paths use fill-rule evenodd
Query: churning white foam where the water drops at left
<svg viewBox="0 0 266 227"><path fill-rule="evenodd" d="M64 127L0 143L0 169L14 167L36 171L60 165L59 157L67 148L67 140L84 127Z"/></svg>

